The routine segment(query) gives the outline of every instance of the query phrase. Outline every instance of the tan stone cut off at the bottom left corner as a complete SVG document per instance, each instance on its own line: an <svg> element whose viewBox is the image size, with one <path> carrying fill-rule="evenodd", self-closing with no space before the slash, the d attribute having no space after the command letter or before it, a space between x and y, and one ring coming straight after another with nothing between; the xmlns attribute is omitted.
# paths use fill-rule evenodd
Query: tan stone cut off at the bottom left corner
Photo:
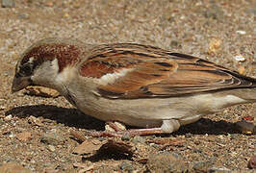
<svg viewBox="0 0 256 173"><path fill-rule="evenodd" d="M0 172L1 173L31 173L32 171L30 171L29 169L19 164L9 162L1 165Z"/></svg>

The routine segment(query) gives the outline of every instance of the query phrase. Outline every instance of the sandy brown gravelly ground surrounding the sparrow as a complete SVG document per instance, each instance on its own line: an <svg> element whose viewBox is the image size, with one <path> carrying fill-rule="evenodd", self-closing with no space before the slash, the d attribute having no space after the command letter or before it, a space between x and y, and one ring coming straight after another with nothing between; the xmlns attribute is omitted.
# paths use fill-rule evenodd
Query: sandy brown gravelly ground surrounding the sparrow
<svg viewBox="0 0 256 173"><path fill-rule="evenodd" d="M109 151L87 158L73 153L80 143L70 131L103 130L103 122L63 97L11 94L11 84L19 55L44 37L150 44L255 77L255 14L253 0L20 0L14 8L0 8L0 165L12 162L28 172L205 172L214 167L253 172L247 162L256 155L256 137L243 135L235 122L255 116L255 104L209 115L172 135L124 139L136 148L132 157ZM182 166L170 168L177 160L173 155Z"/></svg>

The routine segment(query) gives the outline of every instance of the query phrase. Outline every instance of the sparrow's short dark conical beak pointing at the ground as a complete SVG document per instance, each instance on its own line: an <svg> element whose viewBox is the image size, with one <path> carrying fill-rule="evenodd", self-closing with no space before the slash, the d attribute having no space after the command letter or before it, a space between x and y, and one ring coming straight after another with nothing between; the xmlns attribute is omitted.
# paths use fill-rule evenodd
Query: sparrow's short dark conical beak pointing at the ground
<svg viewBox="0 0 256 173"><path fill-rule="evenodd" d="M13 86L12 86L12 93L17 92L26 86L30 86L30 78L29 77L14 77L13 78Z"/></svg>

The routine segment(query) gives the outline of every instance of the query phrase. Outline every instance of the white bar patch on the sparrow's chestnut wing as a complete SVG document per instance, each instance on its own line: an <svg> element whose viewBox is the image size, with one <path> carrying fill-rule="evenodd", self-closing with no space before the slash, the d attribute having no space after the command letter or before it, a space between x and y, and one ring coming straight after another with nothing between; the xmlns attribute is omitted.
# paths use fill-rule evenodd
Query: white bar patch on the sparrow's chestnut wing
<svg viewBox="0 0 256 173"><path fill-rule="evenodd" d="M104 76L102 76L98 81L100 85L106 86L108 84L113 84L115 83L115 81L117 79L119 79L120 77L125 76L127 73L133 71L133 68L124 68L121 69L115 73L111 73L111 74L106 74Z"/></svg>

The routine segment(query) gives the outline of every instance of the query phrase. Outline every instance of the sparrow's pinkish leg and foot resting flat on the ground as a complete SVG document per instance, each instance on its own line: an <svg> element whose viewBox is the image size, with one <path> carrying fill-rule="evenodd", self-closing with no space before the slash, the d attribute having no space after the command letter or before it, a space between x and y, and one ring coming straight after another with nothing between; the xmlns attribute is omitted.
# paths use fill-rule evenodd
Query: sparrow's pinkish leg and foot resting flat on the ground
<svg viewBox="0 0 256 173"><path fill-rule="evenodd" d="M164 120L159 128L146 128L146 129L131 129L120 130L115 122L108 122L115 131L92 132L90 136L148 136L157 134L171 134L180 128L180 123L176 119Z"/></svg>

